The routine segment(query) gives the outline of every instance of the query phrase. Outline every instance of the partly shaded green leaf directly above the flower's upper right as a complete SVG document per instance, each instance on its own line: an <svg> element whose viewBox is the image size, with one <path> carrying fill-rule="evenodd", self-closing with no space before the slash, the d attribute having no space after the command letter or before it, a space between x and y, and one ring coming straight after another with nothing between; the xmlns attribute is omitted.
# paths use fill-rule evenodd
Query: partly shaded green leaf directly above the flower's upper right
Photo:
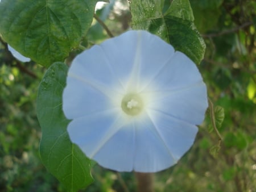
<svg viewBox="0 0 256 192"><path fill-rule="evenodd" d="M138 0L131 2L133 28L147 30L160 36L196 64L204 57L205 43L193 23L189 0L174 0L163 11L164 0Z"/></svg>

